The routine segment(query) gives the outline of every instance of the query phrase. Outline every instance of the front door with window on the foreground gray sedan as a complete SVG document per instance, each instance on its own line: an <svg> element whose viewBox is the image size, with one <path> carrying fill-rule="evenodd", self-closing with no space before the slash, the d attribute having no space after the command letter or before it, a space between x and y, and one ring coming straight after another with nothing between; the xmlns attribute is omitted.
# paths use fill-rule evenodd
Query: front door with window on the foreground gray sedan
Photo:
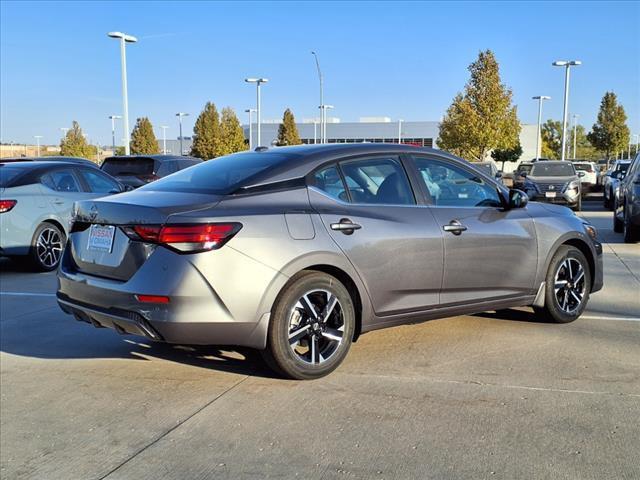
<svg viewBox="0 0 640 480"><path fill-rule="evenodd" d="M531 294L537 241L526 208L506 210L497 184L462 162L412 156L441 229L441 305Z"/></svg>

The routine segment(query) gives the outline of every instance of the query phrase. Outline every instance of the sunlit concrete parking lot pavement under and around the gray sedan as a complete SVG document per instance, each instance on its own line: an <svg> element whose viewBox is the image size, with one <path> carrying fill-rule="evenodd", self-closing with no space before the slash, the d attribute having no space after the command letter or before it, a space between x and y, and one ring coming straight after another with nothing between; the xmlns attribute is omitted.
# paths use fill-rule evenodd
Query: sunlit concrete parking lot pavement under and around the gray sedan
<svg viewBox="0 0 640 480"><path fill-rule="evenodd" d="M0 261L6 479L640 478L640 244L585 203L605 288L568 325L527 309L363 335L332 375L255 352L150 344Z"/></svg>

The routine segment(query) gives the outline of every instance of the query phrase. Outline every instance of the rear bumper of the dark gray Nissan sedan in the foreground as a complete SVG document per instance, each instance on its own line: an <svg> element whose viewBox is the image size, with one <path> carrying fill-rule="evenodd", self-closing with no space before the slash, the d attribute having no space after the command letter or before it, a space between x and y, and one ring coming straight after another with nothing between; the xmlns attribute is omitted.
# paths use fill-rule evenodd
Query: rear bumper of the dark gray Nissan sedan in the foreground
<svg viewBox="0 0 640 480"><path fill-rule="evenodd" d="M70 257L67 248L58 304L78 320L167 343L265 347L271 305L264 292L282 274L231 248L194 255L157 248L127 281L83 273Z"/></svg>

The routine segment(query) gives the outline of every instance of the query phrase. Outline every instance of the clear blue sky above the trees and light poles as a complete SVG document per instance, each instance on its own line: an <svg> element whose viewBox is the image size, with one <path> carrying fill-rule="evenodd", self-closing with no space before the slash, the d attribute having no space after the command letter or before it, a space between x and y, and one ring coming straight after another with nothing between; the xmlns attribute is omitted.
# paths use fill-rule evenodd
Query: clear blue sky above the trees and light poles
<svg viewBox="0 0 640 480"><path fill-rule="evenodd" d="M491 49L513 89L523 123L535 123L533 95L550 95L545 118L562 116L563 69L572 70L570 110L590 128L613 90L632 133L640 133L640 2L10 2L0 4L3 142L58 143L78 120L109 144L120 114L120 30L127 49L129 116L148 116L160 136L190 132L208 100L246 122L264 76L263 118L316 114L318 80L342 121L360 116L438 120L462 90L478 51ZM122 137L119 133L118 137Z"/></svg>

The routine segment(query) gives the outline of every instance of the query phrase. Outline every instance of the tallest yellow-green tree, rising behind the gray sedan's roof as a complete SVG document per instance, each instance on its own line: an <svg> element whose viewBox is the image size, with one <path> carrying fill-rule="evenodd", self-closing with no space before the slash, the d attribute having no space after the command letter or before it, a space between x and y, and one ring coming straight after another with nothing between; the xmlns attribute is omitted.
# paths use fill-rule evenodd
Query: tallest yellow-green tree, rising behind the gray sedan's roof
<svg viewBox="0 0 640 480"><path fill-rule="evenodd" d="M500 81L493 52L480 52L468 70L471 78L447 109L437 143L443 150L482 161L491 150L515 147L520 122L511 103L513 93Z"/></svg>

